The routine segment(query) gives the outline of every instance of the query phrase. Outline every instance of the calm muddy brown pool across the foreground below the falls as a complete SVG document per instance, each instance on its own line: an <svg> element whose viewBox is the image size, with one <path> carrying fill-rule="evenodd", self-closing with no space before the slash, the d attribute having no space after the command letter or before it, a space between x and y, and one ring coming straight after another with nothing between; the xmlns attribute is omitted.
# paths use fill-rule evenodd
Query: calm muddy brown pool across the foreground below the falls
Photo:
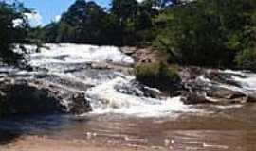
<svg viewBox="0 0 256 151"><path fill-rule="evenodd" d="M204 109L158 118L120 114L15 118L0 124L9 129L5 133L10 137L0 150L255 150L256 105Z"/></svg>

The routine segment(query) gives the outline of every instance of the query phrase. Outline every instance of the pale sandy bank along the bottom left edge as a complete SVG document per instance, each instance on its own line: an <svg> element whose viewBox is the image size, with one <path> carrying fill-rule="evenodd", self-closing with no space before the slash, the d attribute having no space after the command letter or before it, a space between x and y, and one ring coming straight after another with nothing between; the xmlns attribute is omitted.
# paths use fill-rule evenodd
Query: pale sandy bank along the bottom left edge
<svg viewBox="0 0 256 151"><path fill-rule="evenodd" d="M136 146L121 146L120 144L94 144L84 140L55 140L46 137L27 136L2 147L1 151L150 151ZM156 149L157 150L157 149Z"/></svg>

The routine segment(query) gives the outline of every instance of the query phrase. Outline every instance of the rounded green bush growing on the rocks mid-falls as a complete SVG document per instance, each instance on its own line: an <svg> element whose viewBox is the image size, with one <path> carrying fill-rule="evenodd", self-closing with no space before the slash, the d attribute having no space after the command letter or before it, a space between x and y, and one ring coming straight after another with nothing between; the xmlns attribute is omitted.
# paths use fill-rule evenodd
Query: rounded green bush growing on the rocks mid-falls
<svg viewBox="0 0 256 151"><path fill-rule="evenodd" d="M137 65L135 75L142 84L160 90L173 89L174 85L180 82L180 76L177 74L177 71L169 68L164 63Z"/></svg>

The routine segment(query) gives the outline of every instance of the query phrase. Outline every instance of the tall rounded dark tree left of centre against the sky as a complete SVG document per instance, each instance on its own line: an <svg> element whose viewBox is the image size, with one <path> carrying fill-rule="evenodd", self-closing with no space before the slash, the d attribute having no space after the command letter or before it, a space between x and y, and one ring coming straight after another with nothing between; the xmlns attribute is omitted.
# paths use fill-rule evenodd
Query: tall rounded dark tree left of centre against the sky
<svg viewBox="0 0 256 151"><path fill-rule="evenodd" d="M95 2L77 0L62 15L60 23L48 26L57 32L55 42L101 43L106 12Z"/></svg>

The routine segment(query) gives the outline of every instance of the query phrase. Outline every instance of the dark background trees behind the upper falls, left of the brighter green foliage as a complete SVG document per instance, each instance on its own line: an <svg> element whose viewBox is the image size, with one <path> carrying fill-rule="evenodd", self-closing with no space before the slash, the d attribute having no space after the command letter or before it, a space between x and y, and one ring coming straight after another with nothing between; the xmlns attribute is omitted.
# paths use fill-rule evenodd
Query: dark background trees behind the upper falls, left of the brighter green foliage
<svg viewBox="0 0 256 151"><path fill-rule="evenodd" d="M113 0L106 11L95 2L77 0L60 22L44 27L44 41L114 45L152 42L157 10L147 1L138 4L136 0Z"/></svg>

